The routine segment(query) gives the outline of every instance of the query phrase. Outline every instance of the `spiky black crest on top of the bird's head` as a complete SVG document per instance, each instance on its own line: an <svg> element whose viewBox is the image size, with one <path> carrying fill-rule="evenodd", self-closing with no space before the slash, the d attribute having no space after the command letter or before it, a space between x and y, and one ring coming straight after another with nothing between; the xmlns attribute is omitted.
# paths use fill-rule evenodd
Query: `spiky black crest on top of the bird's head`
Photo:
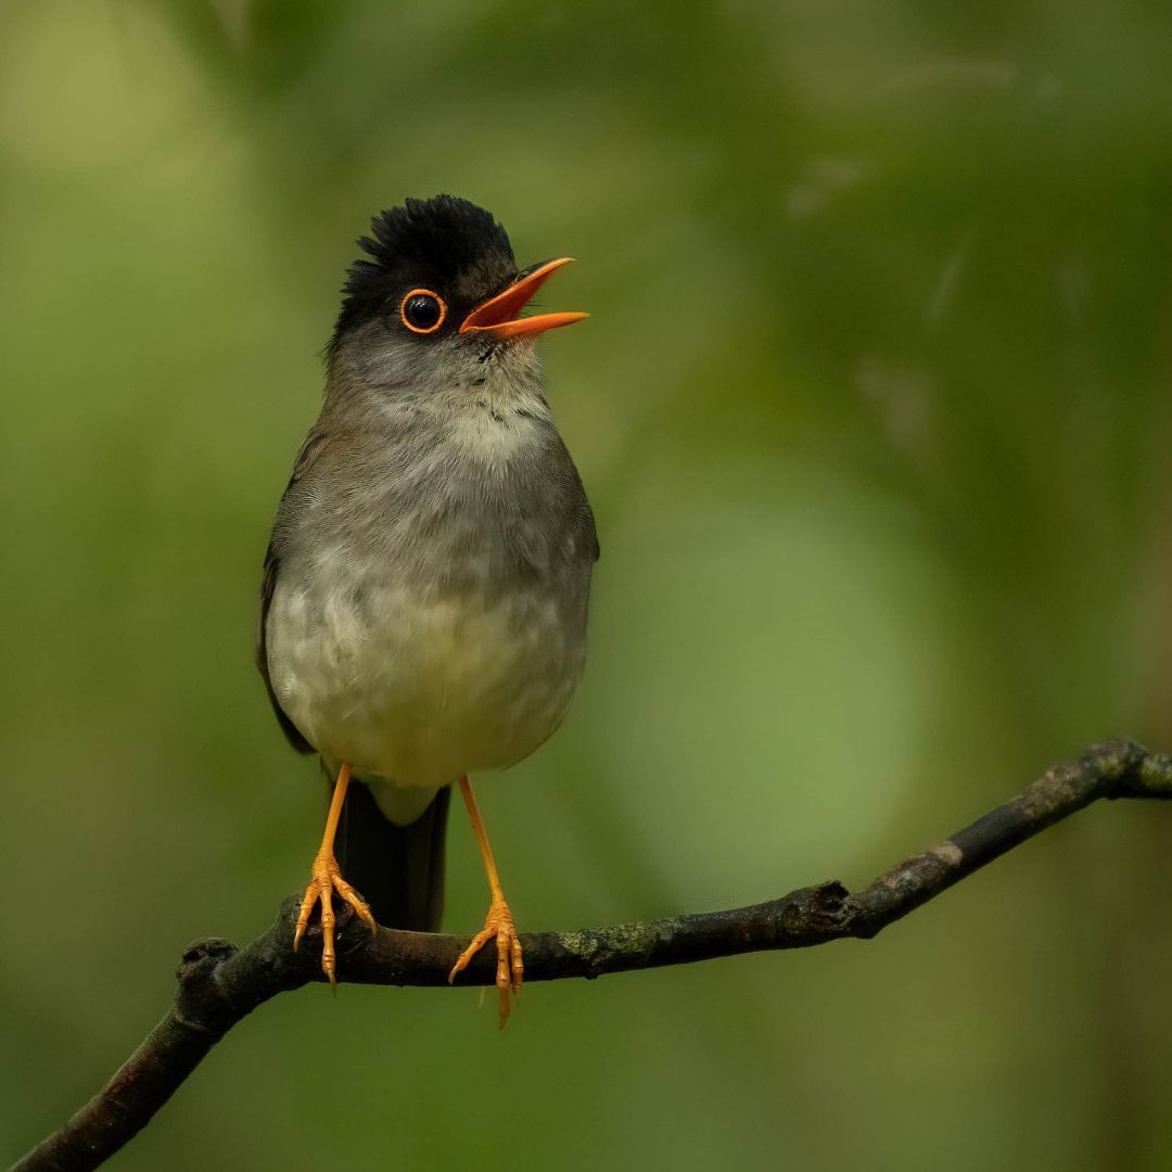
<svg viewBox="0 0 1172 1172"><path fill-rule="evenodd" d="M456 196L407 199L379 212L359 238L370 260L355 260L342 287L333 345L352 327L387 311L418 286L471 308L516 275L509 234L491 212ZM461 302L464 302L463 305Z"/></svg>

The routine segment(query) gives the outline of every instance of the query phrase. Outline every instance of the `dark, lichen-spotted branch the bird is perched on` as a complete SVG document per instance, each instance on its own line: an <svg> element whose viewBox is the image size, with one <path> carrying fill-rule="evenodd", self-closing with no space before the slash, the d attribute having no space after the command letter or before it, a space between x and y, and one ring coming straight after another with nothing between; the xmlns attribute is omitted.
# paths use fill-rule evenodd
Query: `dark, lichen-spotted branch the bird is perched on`
<svg viewBox="0 0 1172 1172"><path fill-rule="evenodd" d="M1079 761L1049 770L1013 800L857 892L831 880L725 912L524 935L525 980L592 979L847 938L870 940L979 867L1099 798L1172 798L1172 758L1130 741L1093 745ZM309 947L292 949L298 904L297 895L285 900L273 926L246 948L218 939L191 945L183 954L179 986L166 1016L110 1082L14 1165L13 1172L97 1167L150 1122L240 1018L278 993L323 980L313 947L320 935L312 935ZM380 928L372 939L348 914L340 914L339 925L339 980L352 983L445 984L468 943L465 936L389 928ZM491 952L472 961L461 984L493 982Z"/></svg>

